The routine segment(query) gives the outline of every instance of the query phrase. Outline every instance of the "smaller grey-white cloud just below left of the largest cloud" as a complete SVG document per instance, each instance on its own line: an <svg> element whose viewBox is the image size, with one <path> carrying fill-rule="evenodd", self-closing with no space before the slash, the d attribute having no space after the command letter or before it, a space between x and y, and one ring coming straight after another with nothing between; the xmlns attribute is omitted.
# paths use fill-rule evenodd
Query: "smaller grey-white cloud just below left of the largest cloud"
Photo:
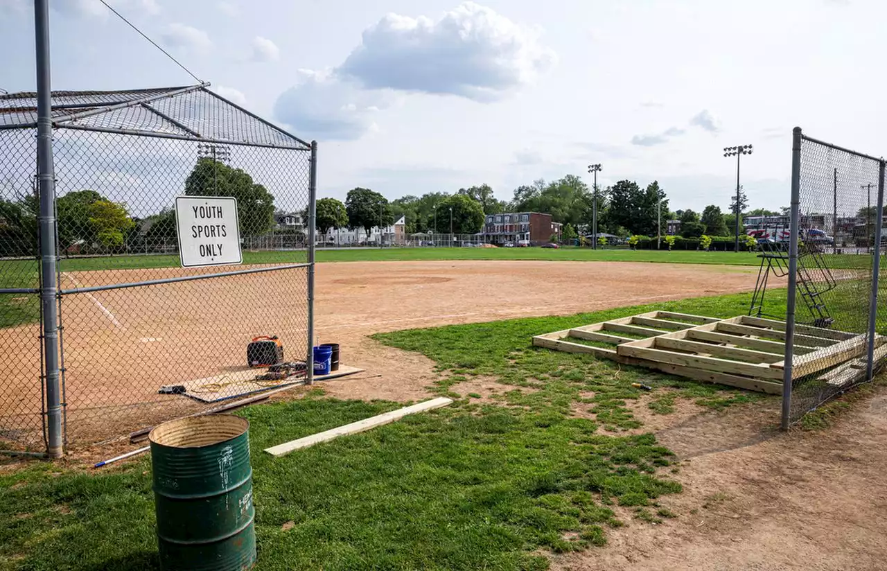
<svg viewBox="0 0 887 571"><path fill-rule="evenodd" d="M348 141L376 129L373 117L391 99L388 90L362 90L328 71L300 69L294 87L274 104L274 114L299 137Z"/></svg>

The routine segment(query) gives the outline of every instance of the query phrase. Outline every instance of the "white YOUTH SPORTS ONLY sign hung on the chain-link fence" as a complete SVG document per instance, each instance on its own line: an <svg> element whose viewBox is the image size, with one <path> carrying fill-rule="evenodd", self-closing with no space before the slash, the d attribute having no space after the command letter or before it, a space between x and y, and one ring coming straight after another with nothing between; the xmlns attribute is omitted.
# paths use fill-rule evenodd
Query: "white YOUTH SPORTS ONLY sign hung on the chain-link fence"
<svg viewBox="0 0 887 571"><path fill-rule="evenodd" d="M176 230L183 268L243 261L233 197L177 196Z"/></svg>

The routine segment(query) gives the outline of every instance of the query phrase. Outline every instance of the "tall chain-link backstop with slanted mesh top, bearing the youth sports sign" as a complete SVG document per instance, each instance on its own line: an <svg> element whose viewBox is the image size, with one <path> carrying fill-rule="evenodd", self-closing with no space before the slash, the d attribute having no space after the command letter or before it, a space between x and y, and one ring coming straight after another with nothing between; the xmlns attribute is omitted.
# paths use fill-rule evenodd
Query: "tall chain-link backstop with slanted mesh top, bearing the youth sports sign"
<svg viewBox="0 0 887 571"><path fill-rule="evenodd" d="M50 97L40 79L43 97L0 96L0 449L58 457L310 383L317 144L208 83ZM183 267L183 196L236 199L239 265ZM247 367L263 336L286 372Z"/></svg>

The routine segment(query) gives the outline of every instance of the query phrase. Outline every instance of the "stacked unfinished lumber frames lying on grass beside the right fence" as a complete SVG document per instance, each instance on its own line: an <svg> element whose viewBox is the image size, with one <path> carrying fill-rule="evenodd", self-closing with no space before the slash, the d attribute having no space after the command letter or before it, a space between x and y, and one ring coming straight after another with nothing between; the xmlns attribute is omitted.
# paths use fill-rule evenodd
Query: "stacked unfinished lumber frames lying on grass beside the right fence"
<svg viewBox="0 0 887 571"><path fill-rule="evenodd" d="M538 335L533 345L779 395L785 337L785 322L774 319L651 311ZM887 355L884 340L881 336L875 340L877 359ZM860 362L865 368L866 348L865 335L796 325L792 375L797 379L822 372L823 382L850 384L858 376Z"/></svg>

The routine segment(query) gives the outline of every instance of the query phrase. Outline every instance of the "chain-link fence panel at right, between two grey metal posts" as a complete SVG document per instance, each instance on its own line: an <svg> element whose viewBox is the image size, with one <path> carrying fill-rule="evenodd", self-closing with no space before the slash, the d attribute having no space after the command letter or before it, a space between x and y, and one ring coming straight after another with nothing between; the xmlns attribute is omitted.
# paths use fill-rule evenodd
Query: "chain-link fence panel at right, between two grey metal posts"
<svg viewBox="0 0 887 571"><path fill-rule="evenodd" d="M887 354L884 161L800 129L793 161L783 427L871 380Z"/></svg>

